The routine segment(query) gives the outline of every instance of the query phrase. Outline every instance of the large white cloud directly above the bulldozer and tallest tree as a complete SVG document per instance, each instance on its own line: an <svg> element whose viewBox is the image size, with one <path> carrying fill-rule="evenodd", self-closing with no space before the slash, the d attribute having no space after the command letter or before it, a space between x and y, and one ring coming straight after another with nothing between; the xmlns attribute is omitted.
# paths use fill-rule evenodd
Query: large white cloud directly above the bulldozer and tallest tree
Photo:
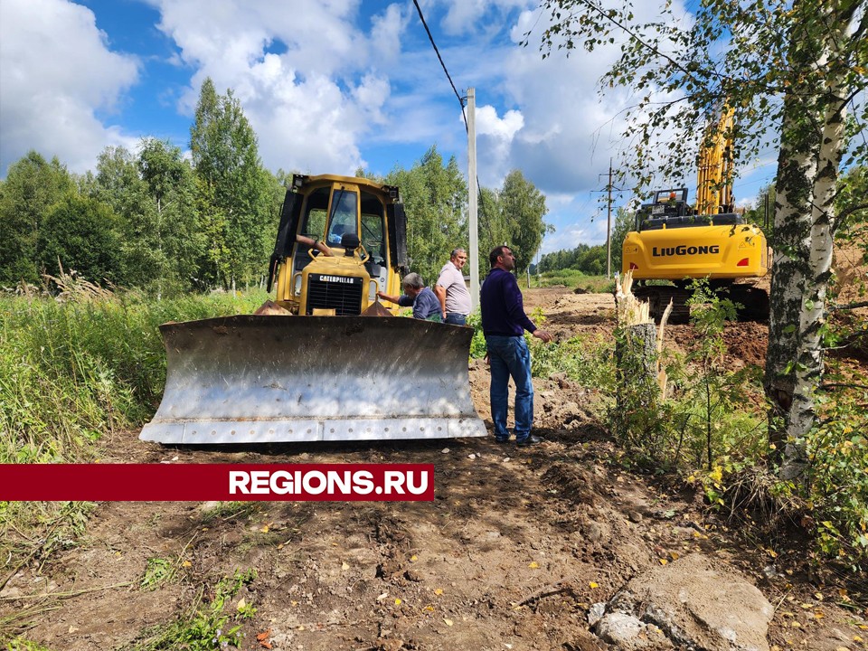
<svg viewBox="0 0 868 651"><path fill-rule="evenodd" d="M266 0L162 0L160 29L195 68L182 109L192 116L211 77L231 88L259 134L270 169L351 174L359 142L387 122L390 80L406 17L397 5L357 26L357 2L316 0L276 8Z"/></svg>

